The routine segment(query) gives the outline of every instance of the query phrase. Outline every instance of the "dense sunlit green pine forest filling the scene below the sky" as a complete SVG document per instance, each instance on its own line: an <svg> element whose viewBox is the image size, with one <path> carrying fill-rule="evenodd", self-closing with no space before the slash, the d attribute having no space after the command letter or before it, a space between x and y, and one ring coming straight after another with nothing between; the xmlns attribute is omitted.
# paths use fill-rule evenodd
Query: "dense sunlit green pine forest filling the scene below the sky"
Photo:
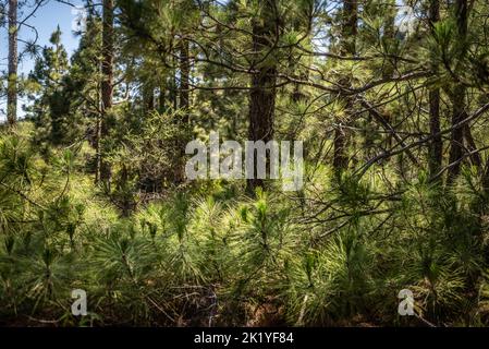
<svg viewBox="0 0 489 349"><path fill-rule="evenodd" d="M122 0L70 59L58 28L0 130L0 322L489 325L487 3L439 3ZM187 181L209 131L303 140L304 188Z"/></svg>

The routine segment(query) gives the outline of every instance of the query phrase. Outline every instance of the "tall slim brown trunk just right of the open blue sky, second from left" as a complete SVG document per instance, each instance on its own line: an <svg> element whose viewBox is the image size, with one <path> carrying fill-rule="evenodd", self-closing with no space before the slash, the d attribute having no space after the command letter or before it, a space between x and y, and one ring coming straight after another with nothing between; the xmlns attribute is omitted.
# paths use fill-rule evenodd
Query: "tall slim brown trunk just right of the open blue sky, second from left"
<svg viewBox="0 0 489 349"><path fill-rule="evenodd" d="M103 0L102 13L102 81L101 81L101 120L100 143L109 133L109 117L113 97L113 0ZM105 160L103 151L99 145L100 180L110 184L111 169Z"/></svg>

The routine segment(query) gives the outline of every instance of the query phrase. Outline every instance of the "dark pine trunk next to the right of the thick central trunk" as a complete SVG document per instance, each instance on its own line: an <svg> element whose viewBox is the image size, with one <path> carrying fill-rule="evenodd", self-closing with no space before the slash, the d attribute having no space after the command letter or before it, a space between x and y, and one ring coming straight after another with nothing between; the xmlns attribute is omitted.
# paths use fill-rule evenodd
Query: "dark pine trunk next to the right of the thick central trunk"
<svg viewBox="0 0 489 349"><path fill-rule="evenodd" d="M358 3L357 0L344 0L342 10L342 33L341 33L341 53L344 56L354 56L356 52L356 34L357 34L357 19ZM350 77L343 79L340 84L349 87ZM339 120L334 130L333 141L333 167L335 170L343 170L347 167L349 158L346 155L346 140L347 129L344 124L347 123L347 118L352 113L353 100L347 96L342 97L345 100L345 116L346 121Z"/></svg>

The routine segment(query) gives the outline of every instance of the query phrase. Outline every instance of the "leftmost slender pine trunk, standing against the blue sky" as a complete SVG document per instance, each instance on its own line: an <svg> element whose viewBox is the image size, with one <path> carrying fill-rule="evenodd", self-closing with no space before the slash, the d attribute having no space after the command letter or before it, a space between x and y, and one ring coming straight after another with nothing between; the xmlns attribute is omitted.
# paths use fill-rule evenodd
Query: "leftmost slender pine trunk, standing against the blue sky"
<svg viewBox="0 0 489 349"><path fill-rule="evenodd" d="M17 0L9 0L9 81L7 86L7 120L17 120Z"/></svg>

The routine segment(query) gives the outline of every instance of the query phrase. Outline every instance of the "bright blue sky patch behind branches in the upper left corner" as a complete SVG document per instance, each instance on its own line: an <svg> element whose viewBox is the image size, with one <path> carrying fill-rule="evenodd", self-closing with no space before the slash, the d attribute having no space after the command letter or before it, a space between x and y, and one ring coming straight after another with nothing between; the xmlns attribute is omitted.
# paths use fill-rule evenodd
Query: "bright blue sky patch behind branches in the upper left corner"
<svg viewBox="0 0 489 349"><path fill-rule="evenodd" d="M33 11L34 1L28 1L26 7L24 7L19 13L19 20L22 21L26 15L28 15ZM82 4L80 0L71 0L73 4ZM71 55L78 46L78 38L73 35L72 31L72 22L76 19L76 14L72 13L73 8L69 4L60 3L54 0L48 0L45 2L42 7L40 7L36 14L33 15L27 24L37 28L38 32L38 41L37 44L40 46L49 45L49 38L51 33L56 31L59 25L62 34L62 44L69 55ZM7 71L7 58L8 58L8 40L7 40L8 32L7 27L0 28L0 70ZM21 40L32 40L35 38L35 34L28 27L22 27L19 34ZM22 52L23 45L19 44L19 52ZM27 74L34 67L34 58L32 57L23 57L22 61L19 63L19 72L20 74ZM19 116L22 117L22 104L24 100L19 101ZM4 98L0 98L0 120L4 120L5 116L3 113L5 109L5 100Z"/></svg>

